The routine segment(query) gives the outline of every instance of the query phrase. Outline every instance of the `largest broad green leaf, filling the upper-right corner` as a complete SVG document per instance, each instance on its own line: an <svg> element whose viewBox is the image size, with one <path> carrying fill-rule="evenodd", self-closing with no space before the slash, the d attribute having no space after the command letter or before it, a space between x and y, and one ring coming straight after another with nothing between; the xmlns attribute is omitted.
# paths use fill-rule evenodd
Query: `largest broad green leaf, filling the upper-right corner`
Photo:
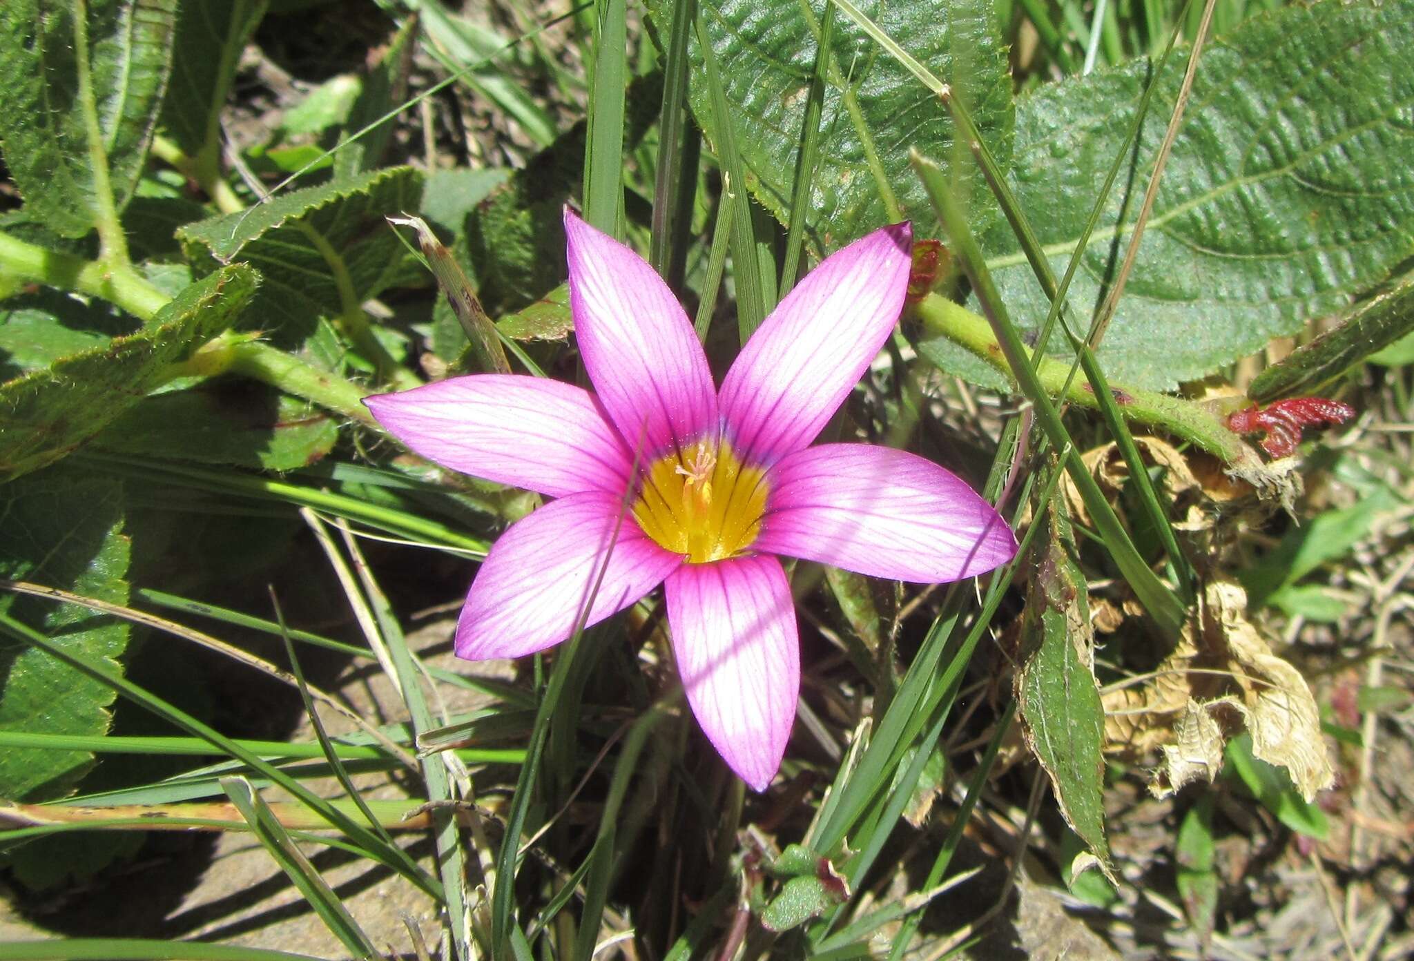
<svg viewBox="0 0 1414 961"><path fill-rule="evenodd" d="M1414 0L1324 0L1253 17L1203 49L1099 350L1116 383L1167 389L1212 373L1309 317L1343 308L1410 256L1411 44ZM1079 309L1099 304L1114 278L1185 59L1171 58L1157 78L1133 175L1110 199L1070 287ZM1048 85L1018 103L1011 185L1056 276L1151 71L1138 61ZM1015 236L994 226L983 247L1012 319L1038 331L1049 304ZM1051 349L1063 343L1056 332Z"/></svg>

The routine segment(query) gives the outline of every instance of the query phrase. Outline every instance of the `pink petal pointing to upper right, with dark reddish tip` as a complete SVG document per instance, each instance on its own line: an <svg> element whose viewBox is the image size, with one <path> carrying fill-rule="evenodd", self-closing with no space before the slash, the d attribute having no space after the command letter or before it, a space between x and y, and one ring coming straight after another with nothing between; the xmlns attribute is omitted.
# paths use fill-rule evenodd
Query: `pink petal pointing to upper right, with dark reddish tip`
<svg viewBox="0 0 1414 961"><path fill-rule="evenodd" d="M895 223L826 257L741 349L720 403L744 459L802 449L850 396L904 309L912 236Z"/></svg>

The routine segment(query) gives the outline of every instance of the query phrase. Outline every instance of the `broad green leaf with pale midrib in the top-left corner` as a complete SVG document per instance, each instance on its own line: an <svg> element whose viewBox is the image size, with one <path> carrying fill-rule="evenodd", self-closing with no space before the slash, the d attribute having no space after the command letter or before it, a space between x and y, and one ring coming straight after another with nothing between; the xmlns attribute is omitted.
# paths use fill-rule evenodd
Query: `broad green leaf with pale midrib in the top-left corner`
<svg viewBox="0 0 1414 961"><path fill-rule="evenodd" d="M137 187L171 71L177 20L177 0L90 0L79 24L75 10L83 8L68 0L0 4L6 165L25 206L74 237L93 229L106 191L122 209ZM86 85L79 76L79 27ZM100 155L106 171L95 174Z"/></svg>

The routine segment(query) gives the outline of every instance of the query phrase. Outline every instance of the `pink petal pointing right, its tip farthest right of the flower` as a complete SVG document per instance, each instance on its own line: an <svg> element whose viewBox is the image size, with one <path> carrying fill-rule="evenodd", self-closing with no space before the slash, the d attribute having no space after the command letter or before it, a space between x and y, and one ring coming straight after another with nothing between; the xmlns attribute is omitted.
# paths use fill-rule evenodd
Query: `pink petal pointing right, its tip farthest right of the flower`
<svg viewBox="0 0 1414 961"><path fill-rule="evenodd" d="M925 584L983 574L1017 553L991 505L916 454L822 444L783 458L766 478L752 550Z"/></svg>

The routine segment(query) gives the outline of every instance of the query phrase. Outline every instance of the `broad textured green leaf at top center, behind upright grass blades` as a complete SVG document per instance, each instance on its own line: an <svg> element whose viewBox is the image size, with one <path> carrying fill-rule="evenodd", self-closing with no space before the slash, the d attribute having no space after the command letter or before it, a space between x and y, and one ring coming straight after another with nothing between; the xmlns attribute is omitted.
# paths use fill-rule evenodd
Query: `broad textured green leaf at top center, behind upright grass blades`
<svg viewBox="0 0 1414 961"><path fill-rule="evenodd" d="M1011 160L1011 73L1007 48L988 0L949 4L861 3L864 14L905 44L909 54L953 85L1005 170ZM666 33L667 3L650 6ZM778 220L790 211L796 154L814 73L823 0L701 0L701 13L721 65L732 107L737 153L747 188ZM895 219L880 198L871 157L902 215L919 236L935 233L922 184L908 167L918 147L950 161L954 143L947 109L902 64L836 13L820 120L819 160L806 209L806 243L817 256ZM717 143L721 131L701 82L701 51L693 47L690 102L699 123ZM850 96L846 96L850 90ZM853 107L857 105L857 113ZM970 157L957 170L962 195L977 209L994 209Z"/></svg>

